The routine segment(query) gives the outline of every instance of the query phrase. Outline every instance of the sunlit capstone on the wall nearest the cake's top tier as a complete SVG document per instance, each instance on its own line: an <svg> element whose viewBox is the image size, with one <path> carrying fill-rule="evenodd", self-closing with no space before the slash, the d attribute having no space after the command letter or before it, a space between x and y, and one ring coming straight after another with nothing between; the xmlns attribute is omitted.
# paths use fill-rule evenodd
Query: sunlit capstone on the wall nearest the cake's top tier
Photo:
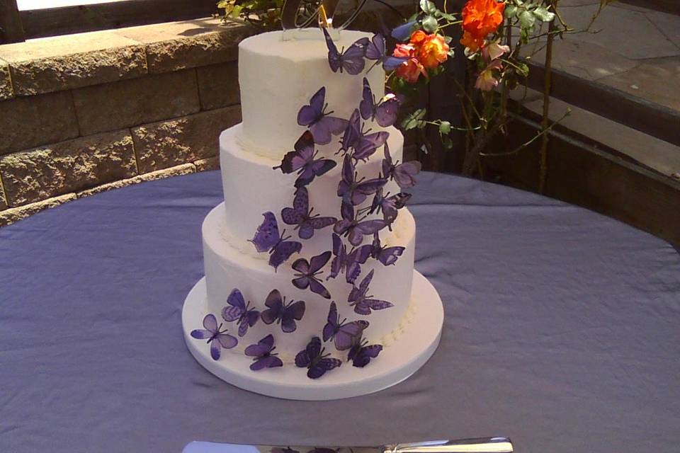
<svg viewBox="0 0 680 453"><path fill-rule="evenodd" d="M233 61L239 42L256 30L205 18L123 28L115 33L144 43L149 72L160 73Z"/></svg>

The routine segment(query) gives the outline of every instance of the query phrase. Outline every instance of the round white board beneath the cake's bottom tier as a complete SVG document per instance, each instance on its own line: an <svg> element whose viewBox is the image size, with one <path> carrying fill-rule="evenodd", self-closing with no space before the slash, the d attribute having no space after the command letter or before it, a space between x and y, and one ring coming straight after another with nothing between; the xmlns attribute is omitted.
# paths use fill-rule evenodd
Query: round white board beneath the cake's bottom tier
<svg viewBox="0 0 680 453"><path fill-rule="evenodd" d="M416 309L404 333L363 368L344 362L319 379L309 379L307 369L288 364L251 371L250 357L229 354L224 350L220 360L212 360L210 345L189 335L193 329L201 328L203 317L208 314L207 300L203 277L189 292L182 309L184 340L198 363L220 379L242 389L276 398L307 401L351 398L399 384L432 356L439 345L444 321L439 294L425 277L414 271L411 303L416 304Z"/></svg>

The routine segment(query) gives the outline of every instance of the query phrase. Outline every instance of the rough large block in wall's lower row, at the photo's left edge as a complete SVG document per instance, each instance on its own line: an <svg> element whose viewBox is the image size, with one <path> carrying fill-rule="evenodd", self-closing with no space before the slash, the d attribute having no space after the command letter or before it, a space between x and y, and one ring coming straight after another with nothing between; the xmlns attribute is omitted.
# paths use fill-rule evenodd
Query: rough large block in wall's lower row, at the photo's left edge
<svg viewBox="0 0 680 453"><path fill-rule="evenodd" d="M0 158L11 207L137 174L128 130L97 134Z"/></svg>

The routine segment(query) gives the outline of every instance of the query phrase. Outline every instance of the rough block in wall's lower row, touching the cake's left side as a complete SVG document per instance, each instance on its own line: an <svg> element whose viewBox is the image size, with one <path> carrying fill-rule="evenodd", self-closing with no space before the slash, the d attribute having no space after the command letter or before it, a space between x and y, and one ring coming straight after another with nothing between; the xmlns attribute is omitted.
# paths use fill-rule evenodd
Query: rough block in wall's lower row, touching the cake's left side
<svg viewBox="0 0 680 453"><path fill-rule="evenodd" d="M217 156L220 132L241 120L239 105L132 129L140 173Z"/></svg>

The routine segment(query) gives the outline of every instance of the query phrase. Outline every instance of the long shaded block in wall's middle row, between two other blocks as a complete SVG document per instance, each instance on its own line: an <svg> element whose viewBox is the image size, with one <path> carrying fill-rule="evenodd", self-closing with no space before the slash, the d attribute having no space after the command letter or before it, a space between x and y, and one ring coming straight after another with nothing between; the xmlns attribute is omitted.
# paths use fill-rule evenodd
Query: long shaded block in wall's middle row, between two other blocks
<svg viewBox="0 0 680 453"><path fill-rule="evenodd" d="M83 135L200 110L194 69L78 88L73 100Z"/></svg>

